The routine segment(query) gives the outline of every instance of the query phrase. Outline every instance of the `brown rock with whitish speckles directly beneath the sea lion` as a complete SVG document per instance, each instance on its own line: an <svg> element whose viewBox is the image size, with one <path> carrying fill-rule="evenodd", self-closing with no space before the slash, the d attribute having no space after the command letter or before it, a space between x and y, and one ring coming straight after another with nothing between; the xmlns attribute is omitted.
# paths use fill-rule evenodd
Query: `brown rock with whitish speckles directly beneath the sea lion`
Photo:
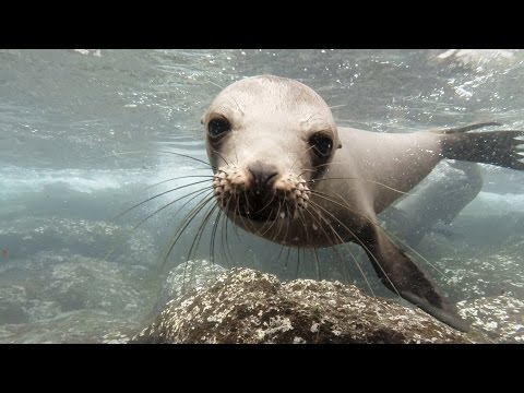
<svg viewBox="0 0 524 393"><path fill-rule="evenodd" d="M338 282L234 269L169 301L132 343L468 343L418 309Z"/></svg>

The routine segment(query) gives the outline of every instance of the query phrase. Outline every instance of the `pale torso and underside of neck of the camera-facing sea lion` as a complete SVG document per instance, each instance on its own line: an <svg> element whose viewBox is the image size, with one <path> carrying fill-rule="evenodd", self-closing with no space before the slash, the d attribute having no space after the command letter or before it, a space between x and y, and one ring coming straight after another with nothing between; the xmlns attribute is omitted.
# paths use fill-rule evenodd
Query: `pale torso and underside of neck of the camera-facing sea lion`
<svg viewBox="0 0 524 393"><path fill-rule="evenodd" d="M332 180L315 184L315 191L335 203L318 194L310 196L325 210L318 212L322 218L309 222L309 226L300 217L277 221L273 226L235 215L230 218L246 230L288 246L358 243L355 235L370 221L377 223L377 214L424 179L441 159L438 135L430 132L388 134L338 128L338 138L342 147L324 174ZM337 236L333 227L337 227Z"/></svg>

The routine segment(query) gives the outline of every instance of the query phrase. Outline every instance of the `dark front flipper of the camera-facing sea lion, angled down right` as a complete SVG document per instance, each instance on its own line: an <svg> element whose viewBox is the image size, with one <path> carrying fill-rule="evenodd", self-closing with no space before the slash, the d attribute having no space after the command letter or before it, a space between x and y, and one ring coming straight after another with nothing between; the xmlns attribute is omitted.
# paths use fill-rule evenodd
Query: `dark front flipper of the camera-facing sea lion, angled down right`
<svg viewBox="0 0 524 393"><path fill-rule="evenodd" d="M445 324L468 332L469 325L456 308L439 293L433 282L400 250L378 225L368 225L360 233L374 271L392 291L419 307Z"/></svg>

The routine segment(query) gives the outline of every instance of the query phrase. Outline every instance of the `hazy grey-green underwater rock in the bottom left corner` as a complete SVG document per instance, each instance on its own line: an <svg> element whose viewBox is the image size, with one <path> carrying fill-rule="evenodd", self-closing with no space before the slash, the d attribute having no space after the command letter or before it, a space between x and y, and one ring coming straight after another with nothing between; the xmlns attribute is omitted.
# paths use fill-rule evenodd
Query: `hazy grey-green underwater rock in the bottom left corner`
<svg viewBox="0 0 524 393"><path fill-rule="evenodd" d="M67 250L9 261L0 265L0 343L122 342L120 332L143 326L155 281L145 266Z"/></svg>

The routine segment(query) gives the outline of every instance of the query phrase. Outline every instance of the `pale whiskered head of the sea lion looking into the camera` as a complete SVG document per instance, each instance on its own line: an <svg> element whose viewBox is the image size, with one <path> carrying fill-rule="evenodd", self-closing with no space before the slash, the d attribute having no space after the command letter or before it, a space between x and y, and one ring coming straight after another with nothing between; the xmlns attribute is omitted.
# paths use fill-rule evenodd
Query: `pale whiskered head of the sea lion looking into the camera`
<svg viewBox="0 0 524 393"><path fill-rule="evenodd" d="M300 82L272 75L224 88L202 123L217 201L228 215L254 222L296 218L341 147L325 102Z"/></svg>

